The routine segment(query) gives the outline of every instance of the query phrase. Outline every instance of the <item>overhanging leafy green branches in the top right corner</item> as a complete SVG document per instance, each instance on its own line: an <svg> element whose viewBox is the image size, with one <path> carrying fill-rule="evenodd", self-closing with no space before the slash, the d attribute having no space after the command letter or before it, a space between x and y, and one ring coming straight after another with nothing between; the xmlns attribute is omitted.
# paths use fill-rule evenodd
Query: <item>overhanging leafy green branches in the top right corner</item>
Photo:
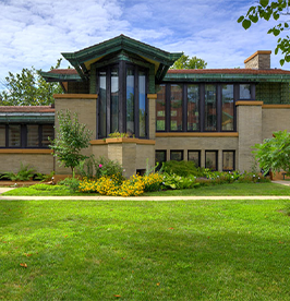
<svg viewBox="0 0 290 301"><path fill-rule="evenodd" d="M290 0L259 0L258 4L251 7L245 15L241 15L238 19L239 23L242 23L244 29L251 27L252 23L257 23L258 20L266 20L273 16L274 20L278 21L281 15L289 15ZM280 22L274 27L269 28L268 34L279 36L283 31L289 31L289 21ZM290 62L290 37L280 37L277 40L277 47L275 55L281 51L283 59L280 60L280 64L283 65L285 61Z"/></svg>

